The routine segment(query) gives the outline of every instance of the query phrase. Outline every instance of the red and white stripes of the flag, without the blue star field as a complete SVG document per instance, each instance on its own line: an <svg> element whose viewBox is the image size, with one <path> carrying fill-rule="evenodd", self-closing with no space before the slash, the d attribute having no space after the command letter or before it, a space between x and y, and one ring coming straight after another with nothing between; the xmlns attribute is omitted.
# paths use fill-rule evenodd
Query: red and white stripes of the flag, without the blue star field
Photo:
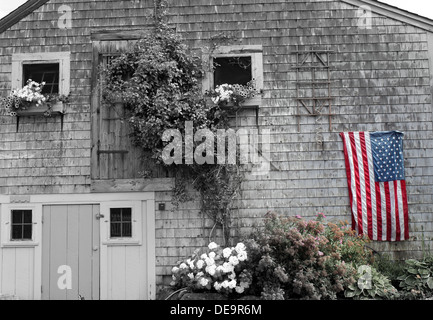
<svg viewBox="0 0 433 320"><path fill-rule="evenodd" d="M409 238L406 181L377 182L369 132L342 132L352 227L371 240Z"/></svg>

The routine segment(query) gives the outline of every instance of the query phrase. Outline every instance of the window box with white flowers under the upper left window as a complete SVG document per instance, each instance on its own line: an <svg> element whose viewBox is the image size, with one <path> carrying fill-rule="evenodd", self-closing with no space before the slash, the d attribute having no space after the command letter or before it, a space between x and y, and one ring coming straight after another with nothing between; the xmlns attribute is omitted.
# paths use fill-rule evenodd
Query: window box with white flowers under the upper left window
<svg viewBox="0 0 433 320"><path fill-rule="evenodd" d="M9 97L3 98L2 107L10 116L33 116L63 113L63 103L68 97L57 94L42 94L45 82L38 83L29 79L27 84L19 89L13 90Z"/></svg>

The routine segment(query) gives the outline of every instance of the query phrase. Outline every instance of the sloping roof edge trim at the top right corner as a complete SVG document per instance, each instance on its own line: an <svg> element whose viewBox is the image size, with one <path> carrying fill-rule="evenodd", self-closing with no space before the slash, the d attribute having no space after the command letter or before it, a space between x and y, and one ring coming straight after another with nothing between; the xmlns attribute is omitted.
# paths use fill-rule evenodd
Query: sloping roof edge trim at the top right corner
<svg viewBox="0 0 433 320"><path fill-rule="evenodd" d="M433 32L433 20L377 0L340 0L353 6L368 6L371 11L391 19Z"/></svg>

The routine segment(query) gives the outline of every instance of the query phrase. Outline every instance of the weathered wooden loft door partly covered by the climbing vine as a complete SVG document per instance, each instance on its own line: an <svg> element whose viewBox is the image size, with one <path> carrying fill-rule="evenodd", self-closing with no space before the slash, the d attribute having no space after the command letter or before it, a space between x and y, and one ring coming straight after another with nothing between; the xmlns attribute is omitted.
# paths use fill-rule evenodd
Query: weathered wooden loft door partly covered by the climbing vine
<svg viewBox="0 0 433 320"><path fill-rule="evenodd" d="M93 42L92 93L92 179L138 178L140 150L130 138L128 114L122 103L104 103L102 86L105 81L100 66L106 66L136 40Z"/></svg>

